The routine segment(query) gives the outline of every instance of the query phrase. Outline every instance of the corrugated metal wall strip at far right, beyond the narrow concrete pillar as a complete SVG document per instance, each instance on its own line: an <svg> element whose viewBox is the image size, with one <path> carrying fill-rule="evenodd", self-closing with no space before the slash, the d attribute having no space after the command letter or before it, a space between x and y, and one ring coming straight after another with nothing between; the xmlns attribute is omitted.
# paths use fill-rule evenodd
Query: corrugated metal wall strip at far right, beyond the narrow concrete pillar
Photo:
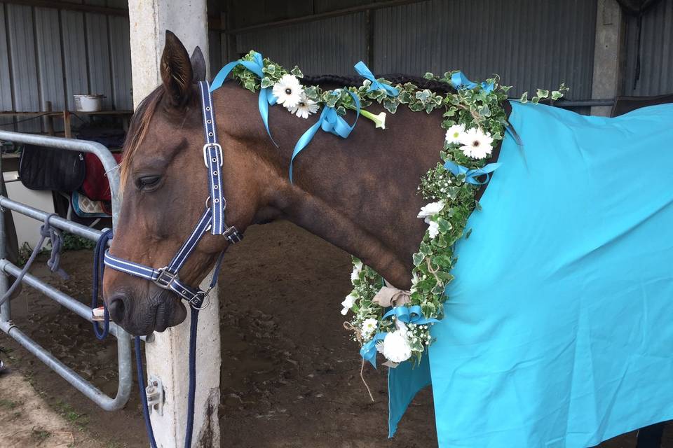
<svg viewBox="0 0 673 448"><path fill-rule="evenodd" d="M673 93L673 0L663 0L643 16L641 66L637 83L638 19L627 18L627 59L622 93L650 96Z"/></svg>

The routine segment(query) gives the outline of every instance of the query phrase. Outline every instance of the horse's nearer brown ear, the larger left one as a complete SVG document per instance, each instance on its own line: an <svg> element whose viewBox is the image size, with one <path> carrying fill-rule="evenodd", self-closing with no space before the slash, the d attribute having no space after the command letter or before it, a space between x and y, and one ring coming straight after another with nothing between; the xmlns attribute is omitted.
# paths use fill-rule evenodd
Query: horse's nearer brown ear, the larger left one
<svg viewBox="0 0 673 448"><path fill-rule="evenodd" d="M167 29L161 55L161 80L173 105L181 106L186 102L192 79L189 54L180 39Z"/></svg>

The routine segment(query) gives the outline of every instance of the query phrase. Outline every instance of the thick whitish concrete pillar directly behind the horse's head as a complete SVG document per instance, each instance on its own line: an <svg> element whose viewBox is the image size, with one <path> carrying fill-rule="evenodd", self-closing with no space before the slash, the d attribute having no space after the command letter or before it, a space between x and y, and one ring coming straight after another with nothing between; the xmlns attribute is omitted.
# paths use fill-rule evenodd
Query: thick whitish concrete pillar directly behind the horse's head
<svg viewBox="0 0 673 448"><path fill-rule="evenodd" d="M165 30L173 31L190 54L199 45L203 54L208 55L208 20L205 0L129 0L128 10L133 104L137 106L161 83L159 67ZM202 288L207 288L211 276L212 272ZM193 447L219 447L221 355L217 288L210 292L210 297L210 306L199 313ZM181 325L155 336L154 342L145 347L147 375L161 379L165 404L163 416L157 412L151 414L154 435L159 447L182 447L189 386L189 316Z"/></svg>

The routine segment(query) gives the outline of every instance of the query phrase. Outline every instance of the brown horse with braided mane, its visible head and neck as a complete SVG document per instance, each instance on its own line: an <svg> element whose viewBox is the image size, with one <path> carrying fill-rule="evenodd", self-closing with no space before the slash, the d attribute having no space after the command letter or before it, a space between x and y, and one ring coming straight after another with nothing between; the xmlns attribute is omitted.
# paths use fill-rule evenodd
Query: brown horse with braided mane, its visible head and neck
<svg viewBox="0 0 673 448"><path fill-rule="evenodd" d="M163 85L138 108L125 143L123 202L112 255L165 266L203 213L208 181L196 87L203 62L198 58L195 62L196 68L182 43L167 32L161 59ZM313 80L318 81L323 87L325 83L342 87L339 82L347 80ZM439 161L444 142L441 112L426 115L400 107L388 116L386 130L362 122L348 139L318 132L294 162L293 185L287 174L292 149L315 117L302 120L271 107L276 148L259 118L257 95L230 82L213 93L213 102L224 155L229 225L244 232L252 224L292 221L357 256L394 286L409 288L412 253L426 231L416 218L423 205L416 191L421 176ZM224 238L206 235L181 270L181 278L198 285L226 246ZM186 316L177 296L111 269L105 276L104 296L114 321L136 335L163 331Z"/></svg>

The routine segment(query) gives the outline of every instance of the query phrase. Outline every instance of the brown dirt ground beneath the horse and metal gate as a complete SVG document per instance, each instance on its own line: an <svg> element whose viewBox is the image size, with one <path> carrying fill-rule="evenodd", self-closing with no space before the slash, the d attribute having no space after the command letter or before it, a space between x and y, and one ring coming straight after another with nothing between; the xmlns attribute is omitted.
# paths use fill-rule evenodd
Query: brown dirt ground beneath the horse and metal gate
<svg viewBox="0 0 673 448"><path fill-rule="evenodd" d="M34 274L85 303L90 301L90 251L64 254L69 281L43 267ZM433 447L437 446L430 391L423 391L402 419L395 439L387 439L385 368L365 367L375 402L360 380L358 347L342 328L340 302L350 291L346 253L290 223L250 228L226 256L220 281L222 307L222 447ZM90 324L64 311L27 286L12 302L13 318L29 336L77 372L116 391L114 338L98 342ZM30 326L27 326L30 325ZM0 335L2 355L32 385L61 423L46 428L54 437L72 432L74 447L146 447L137 386L128 405L110 414L98 409L18 344ZM12 381L18 381L12 375ZM14 388L0 377L0 434L13 409L3 400ZM8 420L9 419L9 420ZM4 437L4 436L3 436ZM29 433L7 446L57 447L51 435L41 444ZM55 438L52 440L56 440ZM0 446L5 446L0 444ZM64 445L67 446L67 445ZM633 448L630 433L601 448ZM673 448L667 428L662 447Z"/></svg>

